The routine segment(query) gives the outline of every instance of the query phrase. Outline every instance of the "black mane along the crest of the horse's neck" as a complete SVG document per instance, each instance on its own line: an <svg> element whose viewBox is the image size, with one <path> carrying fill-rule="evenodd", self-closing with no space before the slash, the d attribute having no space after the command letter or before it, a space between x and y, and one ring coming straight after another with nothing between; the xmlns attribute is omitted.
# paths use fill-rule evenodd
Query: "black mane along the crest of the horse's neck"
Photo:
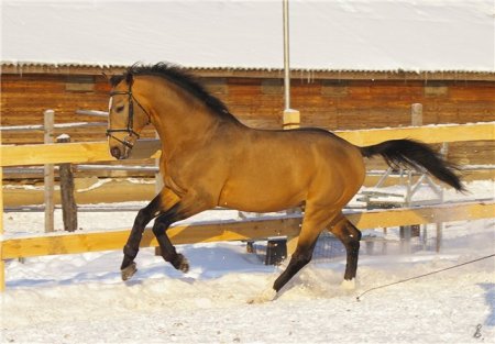
<svg viewBox="0 0 495 344"><path fill-rule="evenodd" d="M122 80L125 79L129 82L133 76L140 75L157 76L174 82L182 89L188 91L190 95L205 102L208 108L222 118L235 119L230 113L227 106L217 97L211 96L193 75L185 71L182 67L173 64L158 63L156 65L148 66L135 64L129 67L123 75L112 76L110 78L110 84L112 87L116 87Z"/></svg>

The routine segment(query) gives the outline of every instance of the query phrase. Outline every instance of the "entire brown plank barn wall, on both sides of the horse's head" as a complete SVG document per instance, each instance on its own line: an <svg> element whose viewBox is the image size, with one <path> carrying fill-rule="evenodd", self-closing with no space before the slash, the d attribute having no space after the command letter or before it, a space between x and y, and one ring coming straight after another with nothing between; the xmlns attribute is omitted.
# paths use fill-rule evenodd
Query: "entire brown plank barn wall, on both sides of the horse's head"
<svg viewBox="0 0 495 344"><path fill-rule="evenodd" d="M282 127L283 81L279 78L202 77L242 122ZM495 81L407 79L308 79L292 81L292 107L302 126L352 130L410 123L410 106L424 104L424 124L495 121ZM109 86L101 75L3 74L1 125L42 124L43 111L55 110L56 123L105 121L77 115L78 109L108 108ZM105 127L57 130L73 141L105 140ZM145 137L153 137L147 130ZM2 134L3 144L41 143L41 132ZM450 157L461 164L493 164L493 142L452 144Z"/></svg>

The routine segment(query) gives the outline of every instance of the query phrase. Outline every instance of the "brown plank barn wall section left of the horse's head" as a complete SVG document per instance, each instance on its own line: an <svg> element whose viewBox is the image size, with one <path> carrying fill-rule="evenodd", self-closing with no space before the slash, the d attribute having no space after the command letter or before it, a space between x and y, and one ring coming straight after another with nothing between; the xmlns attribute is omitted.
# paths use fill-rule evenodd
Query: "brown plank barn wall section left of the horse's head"
<svg viewBox="0 0 495 344"><path fill-rule="evenodd" d="M103 76L2 75L1 125L43 124L43 111L55 110L55 123L97 122L78 109L108 110L109 87ZM73 141L105 140L105 127L57 130ZM2 143L42 143L42 132L4 132Z"/></svg>

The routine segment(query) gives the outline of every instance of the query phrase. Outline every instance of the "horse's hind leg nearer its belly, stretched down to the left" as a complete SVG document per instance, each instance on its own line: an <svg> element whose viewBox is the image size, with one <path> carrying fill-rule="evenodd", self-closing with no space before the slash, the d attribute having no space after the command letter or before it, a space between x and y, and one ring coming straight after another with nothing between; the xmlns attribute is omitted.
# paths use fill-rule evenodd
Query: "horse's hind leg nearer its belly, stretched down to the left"
<svg viewBox="0 0 495 344"><path fill-rule="evenodd" d="M273 289L278 292L312 257L316 242L320 232L331 222L334 214L328 209L311 209L306 207L306 214L302 221L296 251L290 257L290 262L284 273L275 280Z"/></svg>

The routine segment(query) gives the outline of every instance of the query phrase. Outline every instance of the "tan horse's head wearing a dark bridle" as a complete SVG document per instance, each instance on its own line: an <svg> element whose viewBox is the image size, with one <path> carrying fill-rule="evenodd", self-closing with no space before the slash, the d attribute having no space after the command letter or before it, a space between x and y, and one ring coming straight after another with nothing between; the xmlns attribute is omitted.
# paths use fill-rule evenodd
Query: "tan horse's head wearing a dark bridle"
<svg viewBox="0 0 495 344"><path fill-rule="evenodd" d="M108 144L113 157L125 159L140 138L143 127L151 122L151 116L136 98L138 90L132 74L114 76L110 84L112 90L108 110Z"/></svg>

